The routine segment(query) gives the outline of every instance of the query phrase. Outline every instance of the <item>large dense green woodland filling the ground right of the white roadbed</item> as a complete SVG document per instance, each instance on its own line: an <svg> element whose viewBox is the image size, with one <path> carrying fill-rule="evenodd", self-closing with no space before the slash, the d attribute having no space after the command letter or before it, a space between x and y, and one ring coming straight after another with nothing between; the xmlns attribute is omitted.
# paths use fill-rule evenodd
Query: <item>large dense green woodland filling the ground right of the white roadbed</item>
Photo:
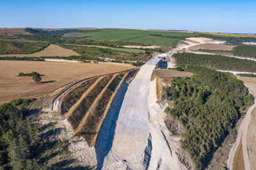
<svg viewBox="0 0 256 170"><path fill-rule="evenodd" d="M233 128L245 108L253 104L253 96L233 74L200 66L188 66L186 71L195 76L174 78L171 86L163 90L163 96L174 101L166 113L184 126L182 147L196 169L203 169L212 150L228 134L235 134Z"/></svg>

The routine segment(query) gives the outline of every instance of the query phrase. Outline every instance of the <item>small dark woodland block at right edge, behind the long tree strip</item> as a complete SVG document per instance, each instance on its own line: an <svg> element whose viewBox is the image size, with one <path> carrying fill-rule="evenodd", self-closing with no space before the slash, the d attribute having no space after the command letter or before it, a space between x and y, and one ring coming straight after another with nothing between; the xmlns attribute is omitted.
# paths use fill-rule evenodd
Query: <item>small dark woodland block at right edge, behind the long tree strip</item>
<svg viewBox="0 0 256 170"><path fill-rule="evenodd" d="M234 55L256 58L256 45L238 45L234 48Z"/></svg>

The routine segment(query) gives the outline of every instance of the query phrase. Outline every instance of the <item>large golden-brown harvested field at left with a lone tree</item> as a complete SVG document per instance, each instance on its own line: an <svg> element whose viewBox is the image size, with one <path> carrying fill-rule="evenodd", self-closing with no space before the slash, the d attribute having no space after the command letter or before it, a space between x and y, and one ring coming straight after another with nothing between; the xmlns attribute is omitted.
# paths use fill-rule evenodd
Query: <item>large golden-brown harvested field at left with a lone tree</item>
<svg viewBox="0 0 256 170"><path fill-rule="evenodd" d="M44 96L75 80L132 68L134 67L114 64L1 60L0 103ZM31 76L17 76L20 72L31 71L44 75L41 83L36 84Z"/></svg>

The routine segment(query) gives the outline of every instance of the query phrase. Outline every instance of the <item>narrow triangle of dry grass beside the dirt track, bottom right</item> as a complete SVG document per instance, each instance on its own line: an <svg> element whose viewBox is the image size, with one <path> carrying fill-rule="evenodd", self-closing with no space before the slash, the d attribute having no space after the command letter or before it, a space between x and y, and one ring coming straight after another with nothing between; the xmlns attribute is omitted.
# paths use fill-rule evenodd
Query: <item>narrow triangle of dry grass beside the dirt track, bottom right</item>
<svg viewBox="0 0 256 170"><path fill-rule="evenodd" d="M234 158L233 170L244 170L242 141L240 141Z"/></svg>

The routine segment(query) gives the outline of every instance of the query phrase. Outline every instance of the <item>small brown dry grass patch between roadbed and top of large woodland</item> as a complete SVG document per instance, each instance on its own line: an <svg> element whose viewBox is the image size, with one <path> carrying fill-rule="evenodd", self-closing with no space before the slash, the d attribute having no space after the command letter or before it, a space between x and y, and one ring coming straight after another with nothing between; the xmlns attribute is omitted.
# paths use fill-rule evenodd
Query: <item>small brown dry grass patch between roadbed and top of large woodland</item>
<svg viewBox="0 0 256 170"><path fill-rule="evenodd" d="M177 71L173 69L157 69L154 71L156 76L160 78L170 78L170 77L184 77L184 76L193 76L193 73L189 73L186 71Z"/></svg>

